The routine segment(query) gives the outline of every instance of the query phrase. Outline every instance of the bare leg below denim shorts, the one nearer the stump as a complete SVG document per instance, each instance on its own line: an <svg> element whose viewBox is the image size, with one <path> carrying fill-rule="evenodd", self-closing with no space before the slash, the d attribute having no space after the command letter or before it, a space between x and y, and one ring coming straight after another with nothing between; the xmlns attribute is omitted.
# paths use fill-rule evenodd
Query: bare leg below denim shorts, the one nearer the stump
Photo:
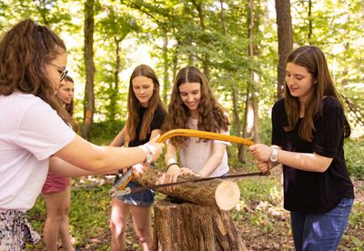
<svg viewBox="0 0 364 251"><path fill-rule="evenodd" d="M151 227L151 212L152 206L130 206L131 216L133 217L136 236L139 239L140 245L144 251L152 250L153 236Z"/></svg>

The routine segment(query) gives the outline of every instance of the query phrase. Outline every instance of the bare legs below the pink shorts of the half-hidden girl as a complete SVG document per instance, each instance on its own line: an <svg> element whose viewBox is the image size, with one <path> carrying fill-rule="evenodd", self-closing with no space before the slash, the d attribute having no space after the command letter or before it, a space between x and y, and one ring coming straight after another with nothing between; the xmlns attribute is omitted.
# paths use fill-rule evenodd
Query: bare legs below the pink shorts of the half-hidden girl
<svg viewBox="0 0 364 251"><path fill-rule="evenodd" d="M64 224L63 220L66 214L66 228L68 229L68 211L69 211L69 199L70 188L66 190L50 193L44 195L46 206L46 220L44 228L45 247L48 251L57 250L58 233L60 227ZM65 236L65 235L64 235ZM67 231L68 241L70 242L69 233ZM72 244L71 244L72 246ZM73 250L73 247L72 249Z"/></svg>

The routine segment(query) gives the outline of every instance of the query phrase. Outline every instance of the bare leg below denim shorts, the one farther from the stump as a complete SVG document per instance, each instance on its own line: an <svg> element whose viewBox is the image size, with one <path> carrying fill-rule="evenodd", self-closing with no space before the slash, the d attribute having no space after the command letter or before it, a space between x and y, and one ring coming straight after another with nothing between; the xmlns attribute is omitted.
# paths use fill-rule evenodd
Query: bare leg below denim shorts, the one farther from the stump
<svg viewBox="0 0 364 251"><path fill-rule="evenodd" d="M125 250L126 219L128 213L129 205L119 199L113 200L110 218L112 251Z"/></svg>

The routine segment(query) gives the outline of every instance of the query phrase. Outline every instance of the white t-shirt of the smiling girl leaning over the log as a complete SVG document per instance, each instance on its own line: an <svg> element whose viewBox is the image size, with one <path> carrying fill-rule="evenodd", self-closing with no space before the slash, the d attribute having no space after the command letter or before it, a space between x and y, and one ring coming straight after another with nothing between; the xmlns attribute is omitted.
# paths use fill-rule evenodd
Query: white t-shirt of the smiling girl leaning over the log
<svg viewBox="0 0 364 251"><path fill-rule="evenodd" d="M198 119L194 119L192 117L188 118L188 127L189 129L198 128ZM228 135L228 131L221 130L220 134ZM214 144L225 144L230 146L230 143L227 141L220 140L208 140L204 142L201 139L197 142L197 137L189 137L187 141L186 147L180 147L179 156L181 158L181 164L183 167L188 167L195 173L198 173L207 163L207 160L212 156L212 148ZM210 177L216 176L224 176L228 172L227 166L227 150L225 150L224 156L222 158L220 166L217 166L217 169L210 175Z"/></svg>

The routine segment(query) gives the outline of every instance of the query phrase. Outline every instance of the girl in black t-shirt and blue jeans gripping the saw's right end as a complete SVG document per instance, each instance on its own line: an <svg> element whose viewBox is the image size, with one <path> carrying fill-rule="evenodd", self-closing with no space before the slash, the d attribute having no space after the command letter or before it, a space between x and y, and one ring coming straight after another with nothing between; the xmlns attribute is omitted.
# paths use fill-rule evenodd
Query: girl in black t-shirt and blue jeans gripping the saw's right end
<svg viewBox="0 0 364 251"><path fill-rule="evenodd" d="M337 250L354 192L344 158L350 126L322 51L288 56L285 98L272 109L272 146L249 150L258 168L283 165L284 207L296 250Z"/></svg>

